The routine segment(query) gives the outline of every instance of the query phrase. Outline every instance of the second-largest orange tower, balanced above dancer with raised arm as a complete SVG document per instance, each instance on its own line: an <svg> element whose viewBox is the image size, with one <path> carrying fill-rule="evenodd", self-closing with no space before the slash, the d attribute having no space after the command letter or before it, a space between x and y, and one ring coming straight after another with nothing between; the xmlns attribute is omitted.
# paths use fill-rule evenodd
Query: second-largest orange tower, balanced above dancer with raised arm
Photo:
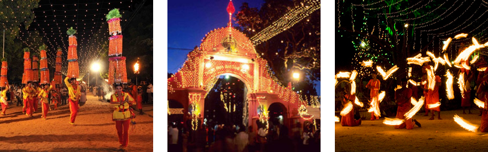
<svg viewBox="0 0 488 152"><path fill-rule="evenodd" d="M73 27L69 28L66 34L69 35L69 47L68 47L68 71L66 76L70 78L78 78L80 69L78 67L78 54L77 54L77 42L76 42L76 30Z"/></svg>

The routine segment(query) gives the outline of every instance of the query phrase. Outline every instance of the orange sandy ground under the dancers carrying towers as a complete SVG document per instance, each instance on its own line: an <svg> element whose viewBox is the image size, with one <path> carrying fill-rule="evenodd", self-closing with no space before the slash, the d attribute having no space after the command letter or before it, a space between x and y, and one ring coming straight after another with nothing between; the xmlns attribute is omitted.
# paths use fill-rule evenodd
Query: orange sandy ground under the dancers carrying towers
<svg viewBox="0 0 488 152"><path fill-rule="evenodd" d="M49 111L43 120L40 105L33 117L27 117L14 101L7 115L0 115L0 151L119 151L113 109L92 94L87 98L75 126L68 124L68 105ZM129 130L128 151L153 151L153 118L137 115L136 122Z"/></svg>

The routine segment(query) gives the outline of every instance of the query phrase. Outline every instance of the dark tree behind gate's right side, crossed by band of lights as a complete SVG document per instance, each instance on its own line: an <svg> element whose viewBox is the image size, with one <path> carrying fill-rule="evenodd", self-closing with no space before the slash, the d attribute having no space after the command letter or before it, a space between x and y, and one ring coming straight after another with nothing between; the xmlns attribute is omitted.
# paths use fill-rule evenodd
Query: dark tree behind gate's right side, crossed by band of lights
<svg viewBox="0 0 488 152"><path fill-rule="evenodd" d="M253 37L291 8L300 5L298 1L266 0L257 9L243 3L235 20L241 32ZM269 62L282 84L294 81L292 73L301 72L303 80L294 83L295 90L302 90L302 95L316 95L312 81L320 81L320 10L258 44L256 51Z"/></svg>

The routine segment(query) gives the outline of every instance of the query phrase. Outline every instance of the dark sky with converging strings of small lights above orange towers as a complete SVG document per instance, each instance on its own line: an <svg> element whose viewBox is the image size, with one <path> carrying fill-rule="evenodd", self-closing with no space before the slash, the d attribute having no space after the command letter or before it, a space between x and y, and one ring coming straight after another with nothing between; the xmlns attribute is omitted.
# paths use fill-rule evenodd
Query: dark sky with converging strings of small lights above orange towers
<svg viewBox="0 0 488 152"><path fill-rule="evenodd" d="M39 7L33 10L35 18L29 27L29 29L20 28L19 39L27 46L33 48L33 44L29 44L28 41L23 40L21 37L27 37L31 35L31 32L38 31L39 36L45 39L47 45L46 54L47 62L50 67L54 67L56 64L56 51L57 48L61 48L64 55L62 62L61 72L65 75L67 71L67 35L66 29L73 27L77 30L75 35L78 38L78 55L80 64L80 78L83 78L89 69L88 66L94 59L99 58L99 51L97 48L101 48L103 43L95 41L94 35L100 35L103 27L107 27L107 23L104 21L105 15L111 9L119 9L120 14L124 14L128 11L134 11L135 6L141 4L141 1L122 0L122 1L83 1L83 3L75 2L52 2L41 1ZM124 16L121 18L121 24L127 23L127 19L133 17ZM127 17L127 18L126 18ZM103 37L102 39L107 39ZM38 51L37 49L33 49Z"/></svg>

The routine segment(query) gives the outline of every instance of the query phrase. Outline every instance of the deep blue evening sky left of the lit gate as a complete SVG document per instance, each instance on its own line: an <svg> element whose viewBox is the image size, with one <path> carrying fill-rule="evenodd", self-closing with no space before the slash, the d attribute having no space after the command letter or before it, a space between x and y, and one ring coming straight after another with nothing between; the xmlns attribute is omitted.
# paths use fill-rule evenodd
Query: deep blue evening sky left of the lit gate
<svg viewBox="0 0 488 152"><path fill-rule="evenodd" d="M232 1L235 14L242 3L250 8L260 8L263 0ZM226 11L228 0L216 1L168 1L168 72L176 73L184 64L188 52L200 46L205 34L215 28L225 27L229 20ZM238 24L233 21L234 26ZM173 49L181 48L181 49ZM185 50L182 50L185 49ZM186 50L187 49L187 50ZM320 81L315 81L320 95Z"/></svg>

